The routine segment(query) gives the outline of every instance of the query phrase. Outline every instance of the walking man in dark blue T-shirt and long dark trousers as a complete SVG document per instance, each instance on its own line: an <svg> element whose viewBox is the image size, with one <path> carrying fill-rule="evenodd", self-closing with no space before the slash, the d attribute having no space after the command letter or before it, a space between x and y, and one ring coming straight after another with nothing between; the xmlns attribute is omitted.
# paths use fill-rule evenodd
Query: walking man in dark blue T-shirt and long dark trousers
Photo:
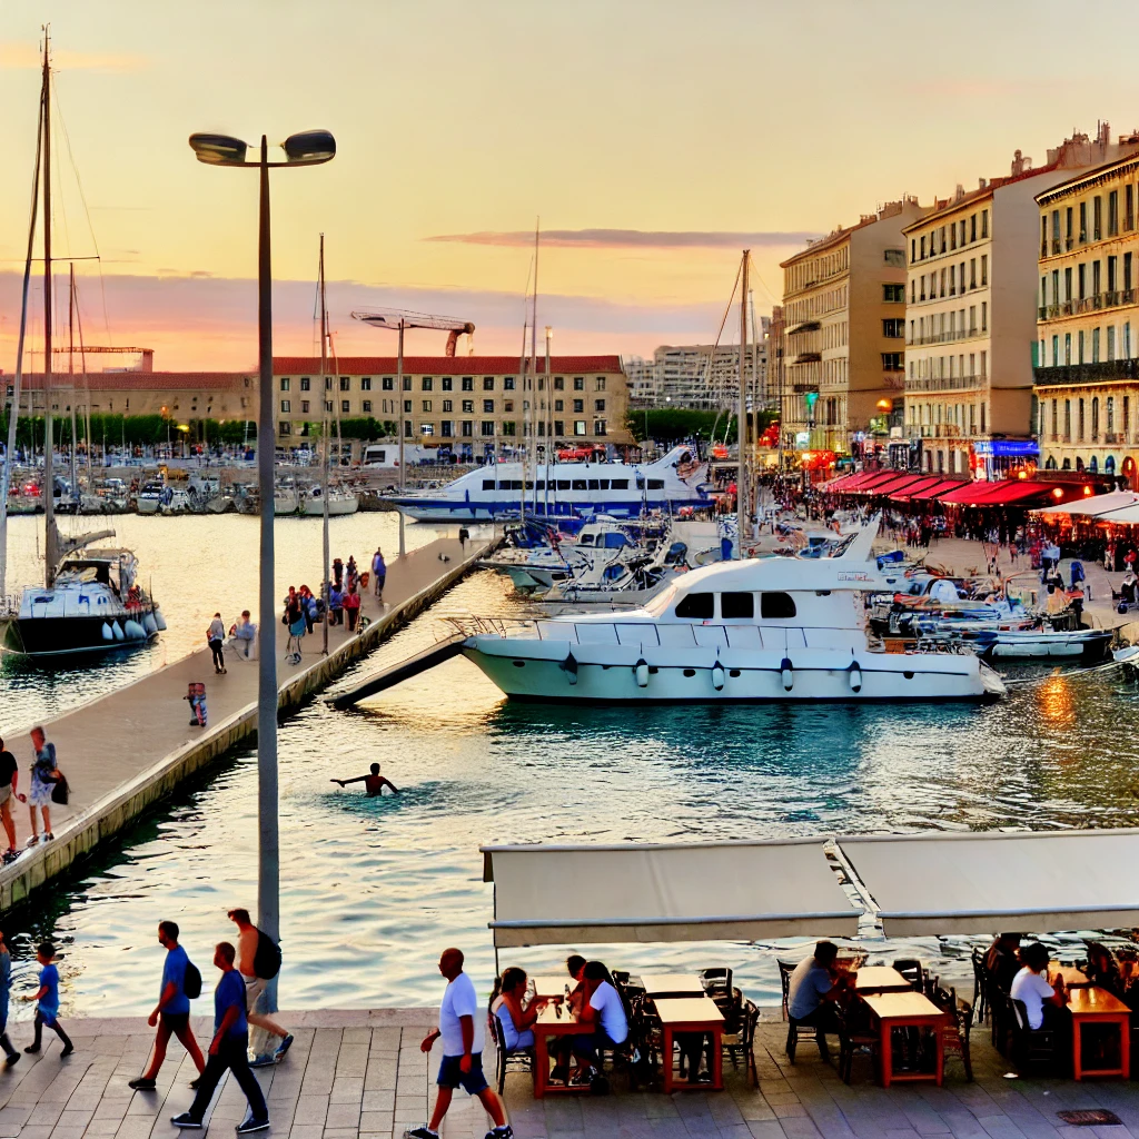
<svg viewBox="0 0 1139 1139"><path fill-rule="evenodd" d="M214 1035L210 1041L210 1059L196 1083L197 1095L187 1112L171 1117L175 1128L200 1131L206 1108L227 1071L233 1073L238 1087L245 1092L249 1112L237 1125L237 1133L264 1131L269 1126L269 1108L261 1093L257 1077L249 1071L249 1025L245 1011L245 986L233 966L237 950L228 941L214 948L214 965L221 969L221 980L214 990Z"/></svg>

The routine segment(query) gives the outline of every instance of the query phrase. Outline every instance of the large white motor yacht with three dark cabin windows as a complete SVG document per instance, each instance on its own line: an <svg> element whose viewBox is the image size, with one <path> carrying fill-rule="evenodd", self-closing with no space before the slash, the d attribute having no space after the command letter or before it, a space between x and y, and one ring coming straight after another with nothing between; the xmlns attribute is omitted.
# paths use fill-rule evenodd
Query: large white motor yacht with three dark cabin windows
<svg viewBox="0 0 1139 1139"><path fill-rule="evenodd" d="M620 614L452 617L461 653L511 699L579 704L984 700L1006 691L968 650L890 652L863 598L877 519L838 557L748 558L683 574Z"/></svg>

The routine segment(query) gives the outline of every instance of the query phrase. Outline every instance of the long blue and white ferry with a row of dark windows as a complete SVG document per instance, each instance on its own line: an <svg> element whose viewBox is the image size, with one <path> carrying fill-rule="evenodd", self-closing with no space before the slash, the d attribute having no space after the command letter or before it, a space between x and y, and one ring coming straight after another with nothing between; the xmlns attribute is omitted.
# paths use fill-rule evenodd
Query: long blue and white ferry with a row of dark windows
<svg viewBox="0 0 1139 1139"><path fill-rule="evenodd" d="M707 467L687 446L673 448L656 462L557 462L526 472L519 462L498 462L472 470L439 490L405 492L393 501L419 522L483 522L519 513L535 517L607 514L636 518L661 510L712 503ZM525 491L524 491L525 486Z"/></svg>

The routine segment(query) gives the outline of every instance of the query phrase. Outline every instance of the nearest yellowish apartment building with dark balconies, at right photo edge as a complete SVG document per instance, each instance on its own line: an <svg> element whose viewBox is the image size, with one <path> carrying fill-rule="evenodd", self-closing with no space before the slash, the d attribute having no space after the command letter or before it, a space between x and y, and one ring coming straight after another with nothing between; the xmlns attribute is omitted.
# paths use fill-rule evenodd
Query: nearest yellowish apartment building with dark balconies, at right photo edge
<svg viewBox="0 0 1139 1139"><path fill-rule="evenodd" d="M1139 489L1139 155L1035 202L1041 465L1115 475Z"/></svg>

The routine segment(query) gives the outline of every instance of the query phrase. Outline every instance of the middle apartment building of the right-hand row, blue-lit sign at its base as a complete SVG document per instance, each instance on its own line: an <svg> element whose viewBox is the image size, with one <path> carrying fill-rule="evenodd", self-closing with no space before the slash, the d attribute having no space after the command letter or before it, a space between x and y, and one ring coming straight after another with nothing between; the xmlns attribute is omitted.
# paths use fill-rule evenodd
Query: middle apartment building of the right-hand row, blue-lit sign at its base
<svg viewBox="0 0 1139 1139"><path fill-rule="evenodd" d="M1033 167L939 200L907 227L906 435L899 466L998 478L1035 464L1036 196L1128 146L1106 123L1075 134ZM1030 273L1032 278L1030 280Z"/></svg>

